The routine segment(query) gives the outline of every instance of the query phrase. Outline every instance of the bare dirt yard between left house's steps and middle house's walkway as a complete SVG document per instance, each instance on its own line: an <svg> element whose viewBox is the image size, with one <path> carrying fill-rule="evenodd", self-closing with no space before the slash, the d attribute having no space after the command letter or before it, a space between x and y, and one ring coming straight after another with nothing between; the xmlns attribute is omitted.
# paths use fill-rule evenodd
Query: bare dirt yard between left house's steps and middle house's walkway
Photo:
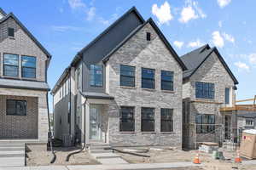
<svg viewBox="0 0 256 170"><path fill-rule="evenodd" d="M70 157L69 161L65 161L69 153L79 150L79 148L54 148L56 160L55 163L50 164L51 152L45 150L42 145L28 145L26 147L26 166L47 166L47 165L96 165L99 164L87 152Z"/></svg>

